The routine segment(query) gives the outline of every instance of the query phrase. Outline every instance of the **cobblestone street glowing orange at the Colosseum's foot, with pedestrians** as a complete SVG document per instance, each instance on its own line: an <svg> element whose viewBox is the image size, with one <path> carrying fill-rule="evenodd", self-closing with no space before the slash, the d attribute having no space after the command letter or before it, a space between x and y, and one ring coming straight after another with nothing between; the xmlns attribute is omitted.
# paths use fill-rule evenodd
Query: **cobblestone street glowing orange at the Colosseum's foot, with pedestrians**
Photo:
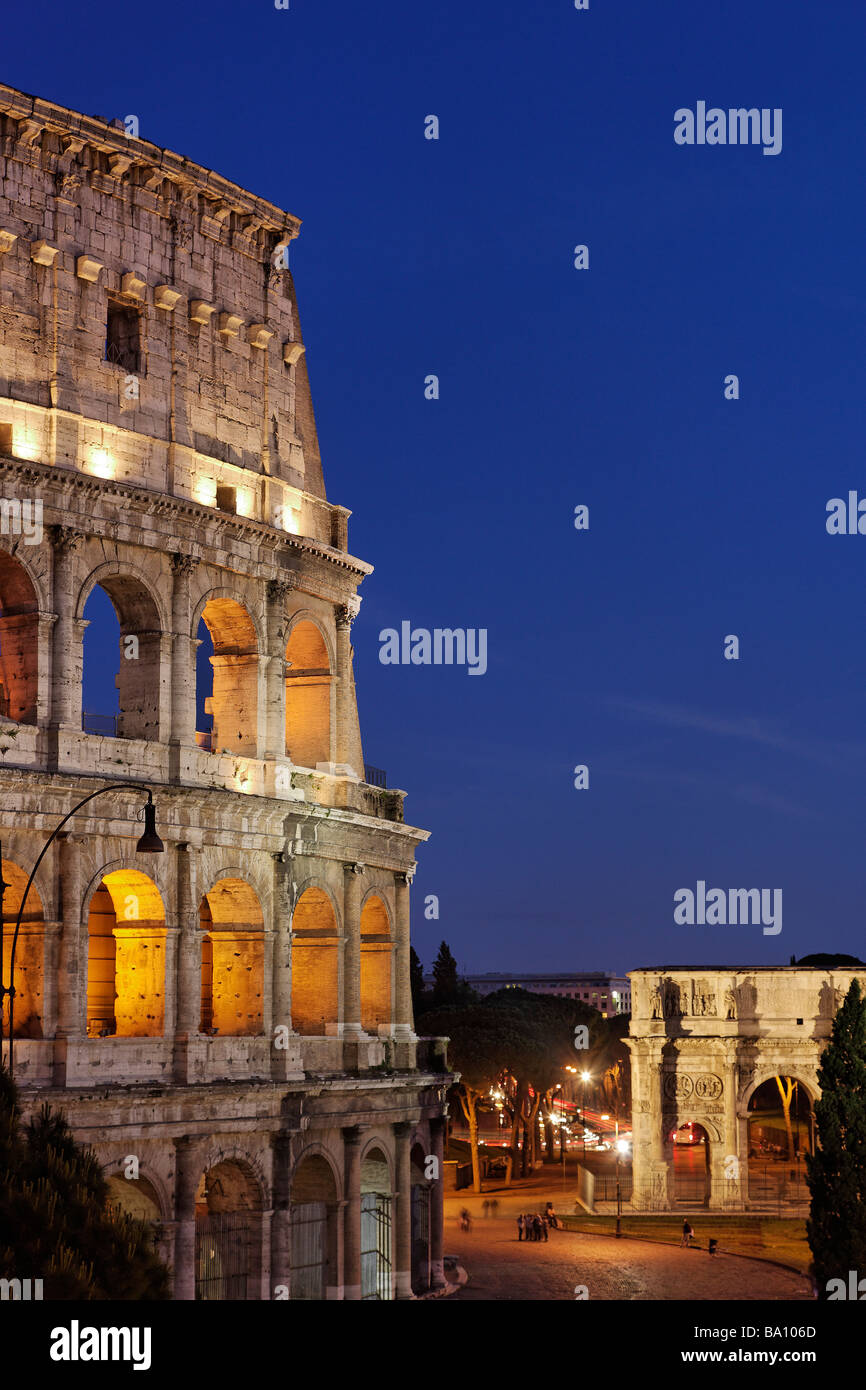
<svg viewBox="0 0 866 1390"><path fill-rule="evenodd" d="M518 1243L512 1216L474 1220L468 1234L449 1216L445 1248L470 1279L452 1294L457 1302L574 1300L577 1284L589 1300L810 1298L802 1275L765 1261L563 1230Z"/></svg>

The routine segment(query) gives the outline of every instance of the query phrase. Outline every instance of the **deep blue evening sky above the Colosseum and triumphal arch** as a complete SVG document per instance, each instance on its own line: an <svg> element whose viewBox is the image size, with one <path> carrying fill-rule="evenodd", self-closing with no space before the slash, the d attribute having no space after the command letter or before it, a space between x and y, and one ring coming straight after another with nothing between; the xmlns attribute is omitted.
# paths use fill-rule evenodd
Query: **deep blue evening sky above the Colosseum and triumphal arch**
<svg viewBox="0 0 866 1390"><path fill-rule="evenodd" d="M4 82L138 114L303 218L328 496L375 564L364 752L432 831L425 965L442 937L467 970L860 955L866 537L824 524L866 495L860 0L152 0L32 25L4 17ZM781 107L783 152L677 146L698 100ZM381 666L402 620L487 628L488 673ZM781 934L676 926L699 878L783 888Z"/></svg>

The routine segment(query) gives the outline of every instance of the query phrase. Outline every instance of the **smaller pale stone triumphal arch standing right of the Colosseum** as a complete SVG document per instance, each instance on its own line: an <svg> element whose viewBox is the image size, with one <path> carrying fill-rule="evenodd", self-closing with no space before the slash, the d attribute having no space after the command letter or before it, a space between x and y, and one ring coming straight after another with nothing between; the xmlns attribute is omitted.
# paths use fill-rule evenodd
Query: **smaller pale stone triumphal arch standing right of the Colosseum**
<svg viewBox="0 0 866 1390"><path fill-rule="evenodd" d="M674 1202L674 1133L706 1136L708 1205L748 1211L749 1101L790 1077L809 1102L833 1019L866 970L663 966L631 970L632 1205Z"/></svg>

